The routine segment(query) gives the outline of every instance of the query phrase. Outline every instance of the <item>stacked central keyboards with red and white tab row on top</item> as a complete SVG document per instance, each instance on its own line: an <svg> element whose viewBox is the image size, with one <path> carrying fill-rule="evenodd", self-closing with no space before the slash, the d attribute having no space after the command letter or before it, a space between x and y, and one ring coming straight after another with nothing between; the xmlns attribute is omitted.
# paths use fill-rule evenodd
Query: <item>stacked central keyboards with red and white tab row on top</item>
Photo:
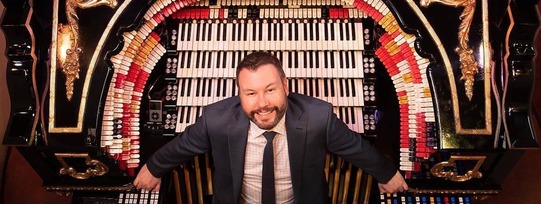
<svg viewBox="0 0 541 204"><path fill-rule="evenodd" d="M176 100L166 101L177 105L176 113L167 114L177 122L175 132L195 122L203 106L238 94L236 65L254 51L269 51L282 61L289 91L331 102L351 129L375 132L375 68L363 57L366 14L321 5L254 6L190 7L173 14L179 26L170 31L177 40L170 42L176 69L169 73L176 73L172 86L178 90L168 98Z"/></svg>

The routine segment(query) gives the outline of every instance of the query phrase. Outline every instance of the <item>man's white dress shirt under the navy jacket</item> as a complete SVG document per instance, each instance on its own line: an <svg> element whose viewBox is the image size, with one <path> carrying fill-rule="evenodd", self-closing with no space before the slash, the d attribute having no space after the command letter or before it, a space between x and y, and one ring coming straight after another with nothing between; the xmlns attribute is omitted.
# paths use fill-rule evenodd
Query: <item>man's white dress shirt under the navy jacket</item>
<svg viewBox="0 0 541 204"><path fill-rule="evenodd" d="M250 121L246 155L244 156L244 178L242 180L241 203L261 203L261 175L263 173L263 150L267 139L265 131ZM289 152L285 116L270 131L276 132L274 143L274 179L276 203L293 203L293 186L289 168Z"/></svg>

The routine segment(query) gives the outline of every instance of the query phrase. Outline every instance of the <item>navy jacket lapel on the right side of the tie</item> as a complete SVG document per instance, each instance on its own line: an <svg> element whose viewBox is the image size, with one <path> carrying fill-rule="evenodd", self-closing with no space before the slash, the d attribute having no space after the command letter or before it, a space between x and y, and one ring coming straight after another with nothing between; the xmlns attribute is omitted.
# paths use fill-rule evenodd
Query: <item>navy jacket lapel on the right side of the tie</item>
<svg viewBox="0 0 541 204"><path fill-rule="evenodd" d="M286 131L291 183L293 184L295 198L300 198L304 149L306 146L306 121L301 119L302 114L303 110L296 104L291 103L290 100L286 113Z"/></svg>

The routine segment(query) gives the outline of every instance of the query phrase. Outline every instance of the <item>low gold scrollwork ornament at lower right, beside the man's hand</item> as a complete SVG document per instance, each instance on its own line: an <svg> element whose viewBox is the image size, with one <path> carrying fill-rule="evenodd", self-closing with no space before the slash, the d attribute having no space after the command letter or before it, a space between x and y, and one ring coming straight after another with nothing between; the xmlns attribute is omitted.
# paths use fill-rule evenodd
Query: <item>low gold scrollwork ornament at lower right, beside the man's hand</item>
<svg viewBox="0 0 541 204"><path fill-rule="evenodd" d="M430 169L430 173L436 177L446 178L451 181L468 181L472 178L481 178L483 174L479 171L485 161L485 156L451 156L447 161L440 162ZM477 161L473 169L466 171L464 175L459 175L456 169L456 161Z"/></svg>

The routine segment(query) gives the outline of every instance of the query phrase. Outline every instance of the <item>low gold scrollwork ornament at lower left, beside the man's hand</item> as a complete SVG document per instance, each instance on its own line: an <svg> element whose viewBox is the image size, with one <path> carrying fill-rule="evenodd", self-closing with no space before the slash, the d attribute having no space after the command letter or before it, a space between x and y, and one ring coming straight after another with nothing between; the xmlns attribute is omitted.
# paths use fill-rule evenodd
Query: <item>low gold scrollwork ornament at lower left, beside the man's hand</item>
<svg viewBox="0 0 541 204"><path fill-rule="evenodd" d="M69 175L76 179L89 179L95 176L103 176L109 172L109 167L96 159L90 158L86 153L55 153L55 156L62 164L62 168L59 171L61 175ZM84 172L77 172L64 158L84 158L88 168Z"/></svg>

